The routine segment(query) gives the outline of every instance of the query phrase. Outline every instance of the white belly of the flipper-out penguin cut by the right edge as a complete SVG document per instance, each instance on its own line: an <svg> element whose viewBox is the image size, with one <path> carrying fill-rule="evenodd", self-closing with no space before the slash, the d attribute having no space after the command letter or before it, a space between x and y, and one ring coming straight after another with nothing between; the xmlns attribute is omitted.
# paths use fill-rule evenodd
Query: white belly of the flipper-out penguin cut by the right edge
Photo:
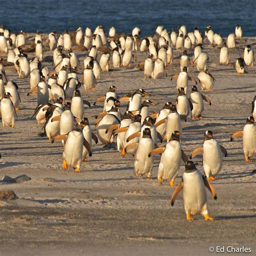
<svg viewBox="0 0 256 256"><path fill-rule="evenodd" d="M256 156L256 125L246 124L242 132L242 144L245 157Z"/></svg>

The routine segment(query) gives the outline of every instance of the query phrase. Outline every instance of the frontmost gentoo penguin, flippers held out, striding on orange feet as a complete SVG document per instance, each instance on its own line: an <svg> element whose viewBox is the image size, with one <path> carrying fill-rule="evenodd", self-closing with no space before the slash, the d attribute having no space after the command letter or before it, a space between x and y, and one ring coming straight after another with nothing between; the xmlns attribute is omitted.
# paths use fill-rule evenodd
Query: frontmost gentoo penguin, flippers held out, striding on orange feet
<svg viewBox="0 0 256 256"><path fill-rule="evenodd" d="M196 214L204 215L205 220L213 220L213 218L208 215L205 187L208 188L213 198L216 200L217 195L212 185L203 174L197 170L193 161L187 161L182 180L172 194L171 206L174 205L174 201L178 196L179 191L183 188L183 200L187 220L194 220L191 215Z"/></svg>

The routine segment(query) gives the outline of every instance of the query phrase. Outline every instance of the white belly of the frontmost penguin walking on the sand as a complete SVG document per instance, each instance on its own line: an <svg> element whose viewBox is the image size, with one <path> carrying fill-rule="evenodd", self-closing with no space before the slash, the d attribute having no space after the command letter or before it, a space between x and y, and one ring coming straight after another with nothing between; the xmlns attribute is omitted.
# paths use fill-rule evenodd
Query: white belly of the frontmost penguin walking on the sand
<svg viewBox="0 0 256 256"><path fill-rule="evenodd" d="M197 170L183 174L183 200L187 214L207 214L207 196L202 174Z"/></svg>

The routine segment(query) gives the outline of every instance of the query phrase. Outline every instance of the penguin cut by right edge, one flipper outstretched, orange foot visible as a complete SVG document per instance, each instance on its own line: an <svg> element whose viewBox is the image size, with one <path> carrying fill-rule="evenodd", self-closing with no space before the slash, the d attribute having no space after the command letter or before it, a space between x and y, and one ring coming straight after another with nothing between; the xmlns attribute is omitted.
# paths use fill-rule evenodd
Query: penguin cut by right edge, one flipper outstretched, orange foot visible
<svg viewBox="0 0 256 256"><path fill-rule="evenodd" d="M251 116L246 119L243 131L235 132L231 137L231 142L239 136L242 136L242 144L245 154L245 161L249 162L250 158L256 156L256 125L255 119Z"/></svg>

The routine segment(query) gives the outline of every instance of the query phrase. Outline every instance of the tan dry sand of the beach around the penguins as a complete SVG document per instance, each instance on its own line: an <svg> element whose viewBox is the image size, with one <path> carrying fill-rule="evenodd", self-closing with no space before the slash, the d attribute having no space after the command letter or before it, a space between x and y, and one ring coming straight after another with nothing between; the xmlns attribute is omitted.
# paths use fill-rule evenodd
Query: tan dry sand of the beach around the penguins
<svg viewBox="0 0 256 256"><path fill-rule="evenodd" d="M231 61L242 55L246 44L254 42L255 38L239 41L238 48L230 50ZM122 158L117 150L102 145L93 145L93 155L83 163L81 173L64 172L61 144L37 136L41 127L31 118L36 95L26 96L29 79L19 79L14 67L6 67L8 79L21 88L22 103L15 129L0 130L1 174L26 174L31 180L0 183L1 190L14 190L18 196L16 200L0 201L0 255L214 255L208 247L222 245L252 247L251 254L256 254L255 157L245 163L241 138L230 142L230 136L242 130L250 116L256 68L237 75L231 66L218 64L220 49L210 45L204 49L210 56L208 70L217 79L213 92L204 92L212 106L205 105L203 120L192 122L188 118L183 122L182 147L189 156L203 144L204 131L212 130L227 149L223 169L212 182L218 200L207 192L208 210L215 220L196 216L193 222L186 221L182 193L171 207L174 188L167 183L159 185L156 179L159 156L151 180L134 177L132 156ZM188 52L191 55L192 51ZM83 60L85 53L77 53ZM174 62L181 53L174 50ZM148 53L135 54L138 63ZM52 69L50 63L43 65ZM170 76L179 73L179 65L167 66L168 77L158 80L144 80L143 71L134 69L135 65L103 73L94 92L85 94L82 88L83 97L93 103L115 85L119 96L143 87L157 103L152 108L155 111L167 100L175 101L176 80L171 82ZM195 78L198 75L192 66L189 73ZM86 107L91 125L102 109L102 105ZM201 160L200 156L195 158L203 171ZM182 164L176 184L183 171Z"/></svg>

